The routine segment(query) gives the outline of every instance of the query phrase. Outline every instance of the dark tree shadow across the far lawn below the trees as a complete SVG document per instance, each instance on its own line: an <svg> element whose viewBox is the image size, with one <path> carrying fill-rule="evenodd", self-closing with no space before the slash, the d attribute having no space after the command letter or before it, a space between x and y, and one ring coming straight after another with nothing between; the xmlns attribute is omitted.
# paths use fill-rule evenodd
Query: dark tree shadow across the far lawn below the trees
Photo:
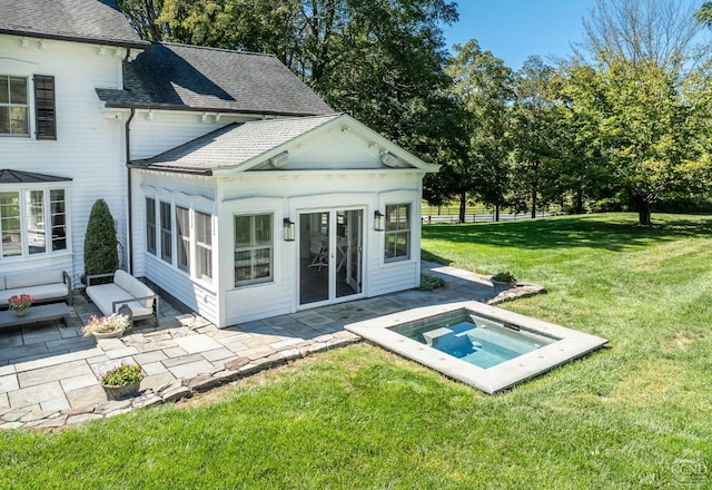
<svg viewBox="0 0 712 490"><path fill-rule="evenodd" d="M486 224L427 225L423 238L451 243L477 243L523 249L592 247L613 252L681 237L712 235L712 217L664 215L653 226L639 226L634 215L602 214L564 216ZM423 258L447 259L425 252Z"/></svg>

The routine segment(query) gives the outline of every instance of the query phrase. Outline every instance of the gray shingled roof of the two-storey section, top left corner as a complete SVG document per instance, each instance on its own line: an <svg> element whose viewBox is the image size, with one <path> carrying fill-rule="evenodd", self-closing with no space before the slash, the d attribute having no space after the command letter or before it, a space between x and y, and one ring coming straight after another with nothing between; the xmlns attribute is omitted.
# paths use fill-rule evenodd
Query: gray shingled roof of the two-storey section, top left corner
<svg viewBox="0 0 712 490"><path fill-rule="evenodd" d="M0 0L0 33L147 48L115 0Z"/></svg>

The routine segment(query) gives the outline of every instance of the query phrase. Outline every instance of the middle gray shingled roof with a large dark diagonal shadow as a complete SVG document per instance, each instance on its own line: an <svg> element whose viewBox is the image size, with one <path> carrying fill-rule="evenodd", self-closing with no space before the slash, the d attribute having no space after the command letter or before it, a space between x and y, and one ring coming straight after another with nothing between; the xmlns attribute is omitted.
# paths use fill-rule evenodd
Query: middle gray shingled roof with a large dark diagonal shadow
<svg viewBox="0 0 712 490"><path fill-rule="evenodd" d="M154 42L127 68L108 107L313 116L334 110L275 56Z"/></svg>

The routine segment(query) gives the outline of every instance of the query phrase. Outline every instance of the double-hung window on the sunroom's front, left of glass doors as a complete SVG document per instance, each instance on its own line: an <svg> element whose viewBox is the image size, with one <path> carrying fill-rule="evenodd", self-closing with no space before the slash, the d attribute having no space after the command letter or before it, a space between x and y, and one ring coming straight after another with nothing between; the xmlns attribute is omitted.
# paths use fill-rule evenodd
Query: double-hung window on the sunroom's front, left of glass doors
<svg viewBox="0 0 712 490"><path fill-rule="evenodd" d="M235 216L235 285L273 280L273 215Z"/></svg>

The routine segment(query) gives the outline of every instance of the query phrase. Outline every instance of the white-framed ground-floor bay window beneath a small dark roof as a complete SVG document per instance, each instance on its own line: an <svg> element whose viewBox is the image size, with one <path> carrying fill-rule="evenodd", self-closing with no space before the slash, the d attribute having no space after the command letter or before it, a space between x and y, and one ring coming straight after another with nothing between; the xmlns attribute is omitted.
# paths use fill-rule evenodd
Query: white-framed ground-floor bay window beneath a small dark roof
<svg viewBox="0 0 712 490"><path fill-rule="evenodd" d="M67 190L0 190L0 259L67 251Z"/></svg>

